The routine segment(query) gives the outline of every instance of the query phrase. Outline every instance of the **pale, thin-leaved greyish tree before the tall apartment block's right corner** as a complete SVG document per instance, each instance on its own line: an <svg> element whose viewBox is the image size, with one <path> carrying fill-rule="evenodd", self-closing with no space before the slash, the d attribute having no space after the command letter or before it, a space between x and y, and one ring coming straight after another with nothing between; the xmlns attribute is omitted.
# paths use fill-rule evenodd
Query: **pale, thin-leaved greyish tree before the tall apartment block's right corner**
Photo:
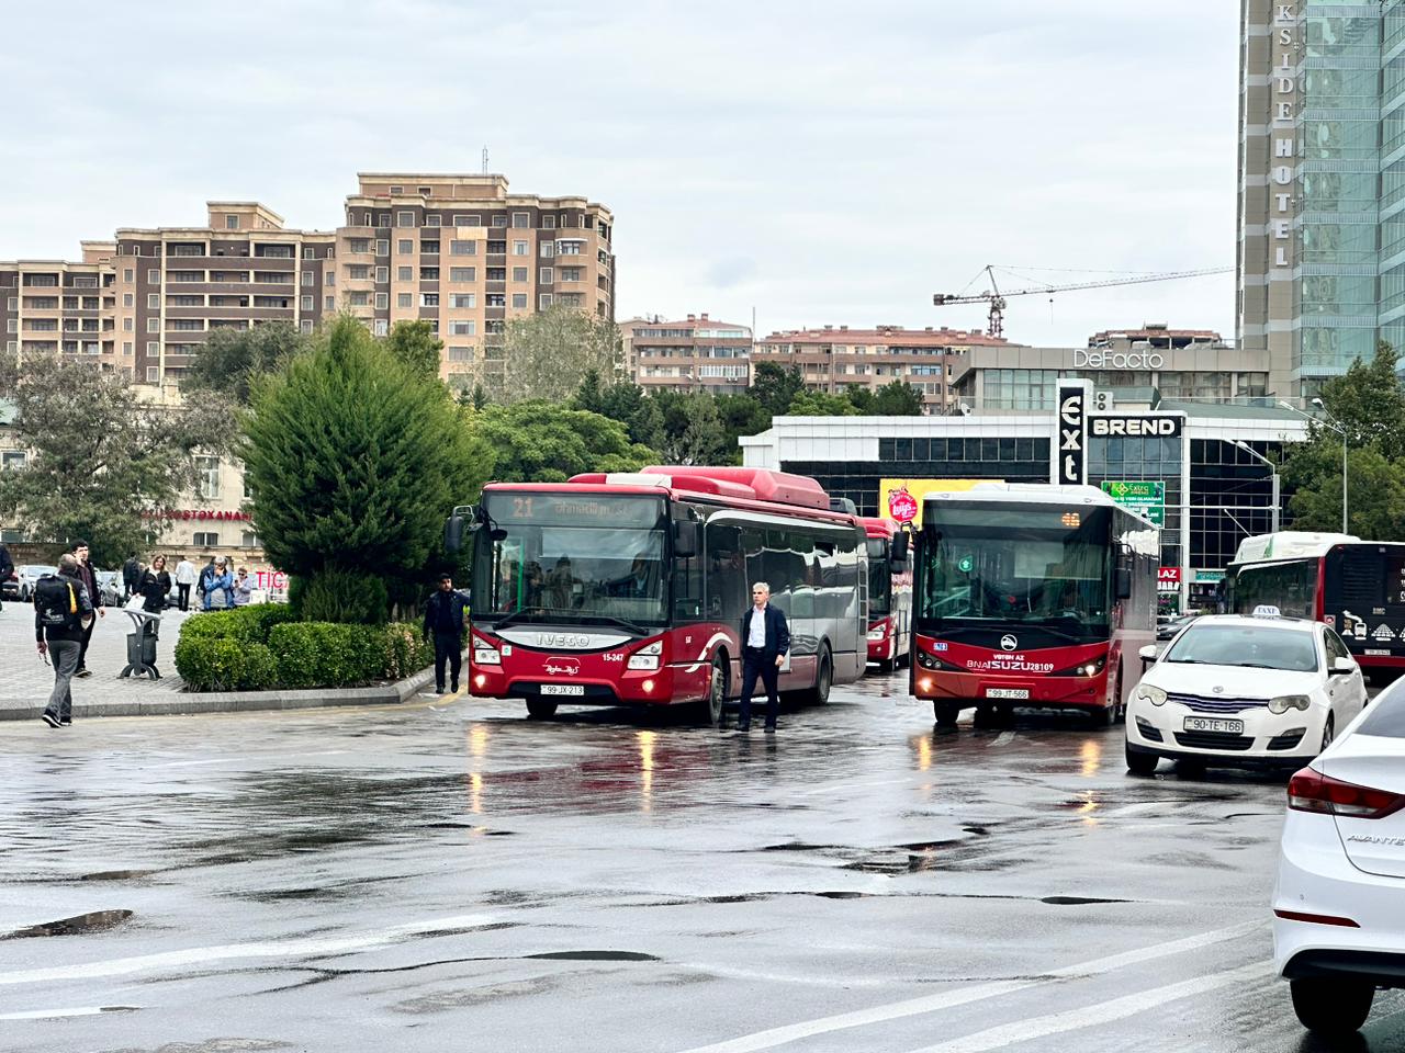
<svg viewBox="0 0 1405 1053"><path fill-rule="evenodd" d="M555 306L507 323L503 372L490 378L503 402L566 402L592 369L599 383L624 375L620 330L573 307Z"/></svg>

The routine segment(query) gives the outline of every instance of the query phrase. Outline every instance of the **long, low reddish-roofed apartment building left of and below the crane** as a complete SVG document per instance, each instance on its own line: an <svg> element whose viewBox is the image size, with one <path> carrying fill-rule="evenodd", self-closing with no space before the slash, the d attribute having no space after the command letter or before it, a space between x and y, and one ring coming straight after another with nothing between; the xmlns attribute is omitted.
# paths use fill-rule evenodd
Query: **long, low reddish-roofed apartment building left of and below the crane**
<svg viewBox="0 0 1405 1053"><path fill-rule="evenodd" d="M927 413L955 404L953 369L975 347L1010 347L1000 337L957 329L850 329L825 326L771 333L756 341L752 362L797 366L812 390L843 395L849 388L882 388L905 380L922 392Z"/></svg>

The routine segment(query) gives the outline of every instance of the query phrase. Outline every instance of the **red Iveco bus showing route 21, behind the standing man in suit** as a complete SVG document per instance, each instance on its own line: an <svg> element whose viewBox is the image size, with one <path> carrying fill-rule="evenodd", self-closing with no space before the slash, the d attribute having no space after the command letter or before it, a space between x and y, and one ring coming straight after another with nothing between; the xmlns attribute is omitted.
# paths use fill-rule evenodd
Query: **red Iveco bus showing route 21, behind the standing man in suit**
<svg viewBox="0 0 1405 1053"><path fill-rule="evenodd" d="M715 726L740 694L740 619L766 581L790 621L780 687L815 702L865 667L864 531L813 479L646 468L569 483L490 483L468 525L468 687L562 702L686 705Z"/></svg>

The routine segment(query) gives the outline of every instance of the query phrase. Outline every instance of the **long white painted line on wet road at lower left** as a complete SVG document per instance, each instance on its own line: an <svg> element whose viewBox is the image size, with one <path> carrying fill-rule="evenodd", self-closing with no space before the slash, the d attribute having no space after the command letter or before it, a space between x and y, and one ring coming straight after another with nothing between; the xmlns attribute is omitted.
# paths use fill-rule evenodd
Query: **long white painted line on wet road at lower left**
<svg viewBox="0 0 1405 1053"><path fill-rule="evenodd" d="M407 925L392 925L374 932L327 939L271 939L250 943L222 943L218 946L192 946L184 951L166 951L157 955L135 958L110 958L100 962L65 965L51 969L15 969L0 973L0 986L55 983L59 980L90 980L101 976L131 976L156 969L181 969L211 962L244 958L326 958L353 951L370 951L396 943L407 936L423 936L431 932L465 928L482 928L497 921L492 914L459 914L448 918L414 921Z"/></svg>

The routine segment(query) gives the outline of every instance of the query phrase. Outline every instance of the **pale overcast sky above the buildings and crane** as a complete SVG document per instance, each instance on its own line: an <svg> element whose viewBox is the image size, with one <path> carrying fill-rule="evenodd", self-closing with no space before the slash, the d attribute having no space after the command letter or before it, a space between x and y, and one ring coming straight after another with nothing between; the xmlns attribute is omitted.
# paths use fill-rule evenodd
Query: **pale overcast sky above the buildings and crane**
<svg viewBox="0 0 1405 1053"><path fill-rule="evenodd" d="M357 171L479 171L486 145L513 190L614 211L621 319L982 327L932 293L988 263L1234 265L1238 7L15 4L0 258L204 222L209 198L330 229ZM1232 337L1232 275L1012 299L1006 336L1148 320Z"/></svg>

